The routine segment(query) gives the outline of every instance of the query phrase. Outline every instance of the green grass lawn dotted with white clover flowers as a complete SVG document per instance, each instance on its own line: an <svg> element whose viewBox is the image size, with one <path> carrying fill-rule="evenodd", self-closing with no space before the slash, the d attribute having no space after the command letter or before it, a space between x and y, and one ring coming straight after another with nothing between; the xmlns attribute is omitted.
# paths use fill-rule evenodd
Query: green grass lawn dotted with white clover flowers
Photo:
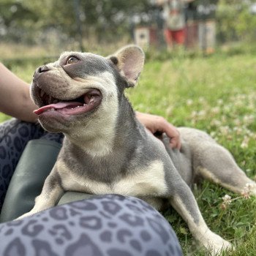
<svg viewBox="0 0 256 256"><path fill-rule="evenodd" d="M34 64L13 65L30 82ZM256 59L249 53L229 56L176 56L150 59L129 97L135 110L164 116L176 126L203 129L228 148L246 172L256 176ZM6 118L0 115L0 121ZM223 209L222 197L233 200ZM256 255L256 198L245 199L206 181L195 186L206 223L236 246L223 255ZM184 255L208 255L197 248L187 225L171 209L163 213L173 225Z"/></svg>

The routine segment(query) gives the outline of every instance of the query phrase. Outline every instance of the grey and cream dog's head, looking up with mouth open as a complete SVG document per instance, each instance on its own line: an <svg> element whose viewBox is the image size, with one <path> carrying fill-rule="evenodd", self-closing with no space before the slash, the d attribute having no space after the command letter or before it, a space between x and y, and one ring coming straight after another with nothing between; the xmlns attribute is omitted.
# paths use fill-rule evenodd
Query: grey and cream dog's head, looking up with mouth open
<svg viewBox="0 0 256 256"><path fill-rule="evenodd" d="M39 106L34 113L50 132L70 132L99 118L108 121L117 115L124 89L137 83L143 63L144 53L135 45L106 58L63 53L34 73L31 97Z"/></svg>

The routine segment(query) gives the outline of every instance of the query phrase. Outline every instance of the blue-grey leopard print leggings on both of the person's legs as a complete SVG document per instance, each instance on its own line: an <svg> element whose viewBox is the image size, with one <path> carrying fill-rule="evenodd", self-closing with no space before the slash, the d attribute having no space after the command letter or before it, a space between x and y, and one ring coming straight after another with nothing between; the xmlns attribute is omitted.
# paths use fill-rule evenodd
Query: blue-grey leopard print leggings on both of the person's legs
<svg viewBox="0 0 256 256"><path fill-rule="evenodd" d="M1 202L23 148L35 138L61 143L63 136L16 119L0 124ZM0 224L0 255L180 256L182 252L169 223L148 203L102 195Z"/></svg>

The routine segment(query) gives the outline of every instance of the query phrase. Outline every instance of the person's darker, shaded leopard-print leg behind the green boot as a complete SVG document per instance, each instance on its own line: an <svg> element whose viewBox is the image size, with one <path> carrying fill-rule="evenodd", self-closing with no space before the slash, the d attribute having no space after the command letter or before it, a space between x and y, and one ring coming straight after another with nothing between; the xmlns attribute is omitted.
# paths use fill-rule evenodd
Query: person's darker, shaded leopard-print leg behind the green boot
<svg viewBox="0 0 256 256"><path fill-rule="evenodd" d="M0 210L10 179L29 140L45 138L61 143L62 135L49 134L39 124L12 118L0 124Z"/></svg>

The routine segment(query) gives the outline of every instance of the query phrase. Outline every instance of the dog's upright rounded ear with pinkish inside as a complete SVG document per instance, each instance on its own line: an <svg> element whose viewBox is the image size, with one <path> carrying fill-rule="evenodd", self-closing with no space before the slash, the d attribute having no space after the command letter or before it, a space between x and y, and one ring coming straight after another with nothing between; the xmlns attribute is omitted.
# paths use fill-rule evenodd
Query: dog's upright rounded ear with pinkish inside
<svg viewBox="0 0 256 256"><path fill-rule="evenodd" d="M108 58L116 65L121 75L127 78L127 87L135 86L144 65L143 50L136 45L128 45Z"/></svg>

